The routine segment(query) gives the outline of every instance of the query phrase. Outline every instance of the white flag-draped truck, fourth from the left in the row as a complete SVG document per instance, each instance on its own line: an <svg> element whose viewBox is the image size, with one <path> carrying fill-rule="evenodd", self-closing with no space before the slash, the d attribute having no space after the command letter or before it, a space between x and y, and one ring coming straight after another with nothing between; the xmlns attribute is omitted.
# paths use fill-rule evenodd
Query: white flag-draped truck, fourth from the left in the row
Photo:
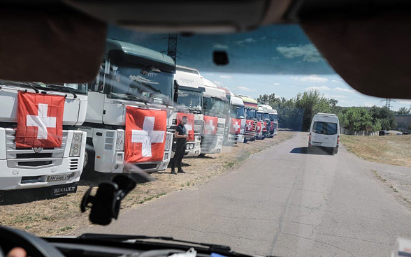
<svg viewBox="0 0 411 257"><path fill-rule="evenodd" d="M201 135L201 154L222 152L224 128L226 125L226 92L218 89L210 80L204 79L203 108L204 129Z"/></svg>

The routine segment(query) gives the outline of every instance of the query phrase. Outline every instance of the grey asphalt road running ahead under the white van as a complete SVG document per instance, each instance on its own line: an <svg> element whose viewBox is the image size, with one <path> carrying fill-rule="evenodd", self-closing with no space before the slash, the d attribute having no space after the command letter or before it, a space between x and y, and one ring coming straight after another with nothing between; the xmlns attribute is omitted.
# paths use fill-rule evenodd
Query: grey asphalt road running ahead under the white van
<svg viewBox="0 0 411 257"><path fill-rule="evenodd" d="M373 163L344 147L305 154L307 140L298 133L207 184L78 233L166 235L263 256L390 256L397 237L411 238L410 209Z"/></svg>

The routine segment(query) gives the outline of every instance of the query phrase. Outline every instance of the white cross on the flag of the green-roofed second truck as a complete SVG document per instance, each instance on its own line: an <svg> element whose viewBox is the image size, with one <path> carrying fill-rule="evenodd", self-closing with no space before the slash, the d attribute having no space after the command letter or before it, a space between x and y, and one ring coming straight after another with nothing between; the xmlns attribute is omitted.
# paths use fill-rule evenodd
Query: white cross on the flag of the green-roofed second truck
<svg viewBox="0 0 411 257"><path fill-rule="evenodd" d="M140 142L141 155L151 157L151 145L154 142L164 142L164 133L166 131L154 131L155 117L144 117L143 130L131 130L131 142Z"/></svg>

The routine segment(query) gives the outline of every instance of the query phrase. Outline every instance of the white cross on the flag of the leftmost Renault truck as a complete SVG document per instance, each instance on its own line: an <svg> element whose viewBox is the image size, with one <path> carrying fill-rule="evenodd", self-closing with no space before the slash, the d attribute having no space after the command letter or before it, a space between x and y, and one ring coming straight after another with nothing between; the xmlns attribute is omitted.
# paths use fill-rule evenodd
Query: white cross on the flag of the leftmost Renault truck
<svg viewBox="0 0 411 257"><path fill-rule="evenodd" d="M56 117L47 116L48 105L45 103L38 104L38 115L27 115L26 126L38 127L37 139L47 139L47 128L56 127Z"/></svg>

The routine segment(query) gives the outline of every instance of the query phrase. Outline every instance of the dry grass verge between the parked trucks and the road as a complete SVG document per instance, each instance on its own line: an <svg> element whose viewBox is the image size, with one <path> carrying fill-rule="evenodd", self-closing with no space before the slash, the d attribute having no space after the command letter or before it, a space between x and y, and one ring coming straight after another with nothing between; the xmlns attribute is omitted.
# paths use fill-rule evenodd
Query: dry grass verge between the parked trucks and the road
<svg viewBox="0 0 411 257"><path fill-rule="evenodd" d="M123 200L122 209L144 204L172 191L207 182L211 177L238 166L250 154L261 152L293 135L293 132L280 131L275 138L224 147L222 154L183 159L187 174L171 175L170 169L152 173L152 177L157 180L138 184ZM80 213L80 201L89 184L96 182L82 182L82 185L78 186L78 193L60 198L0 206L0 225L20 228L41 236L68 235L73 233L75 228L90 226L88 213Z"/></svg>

